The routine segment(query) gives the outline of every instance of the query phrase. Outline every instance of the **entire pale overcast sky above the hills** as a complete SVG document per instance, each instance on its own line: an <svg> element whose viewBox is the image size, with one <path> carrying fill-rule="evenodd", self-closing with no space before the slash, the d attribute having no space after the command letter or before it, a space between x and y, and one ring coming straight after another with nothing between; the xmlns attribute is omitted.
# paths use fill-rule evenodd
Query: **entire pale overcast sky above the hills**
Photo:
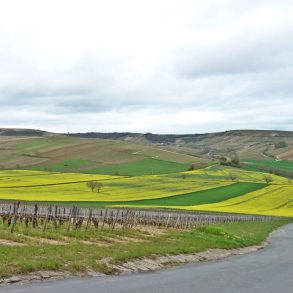
<svg viewBox="0 0 293 293"><path fill-rule="evenodd" d="M0 0L0 128L293 130L292 15L292 0Z"/></svg>

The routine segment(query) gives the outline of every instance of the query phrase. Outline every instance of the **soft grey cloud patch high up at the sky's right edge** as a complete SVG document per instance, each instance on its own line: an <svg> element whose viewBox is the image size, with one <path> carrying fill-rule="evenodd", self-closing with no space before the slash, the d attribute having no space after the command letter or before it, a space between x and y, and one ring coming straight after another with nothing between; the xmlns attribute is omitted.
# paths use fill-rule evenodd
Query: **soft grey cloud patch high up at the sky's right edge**
<svg viewBox="0 0 293 293"><path fill-rule="evenodd" d="M251 44L246 44L246 36L242 35L228 44L215 45L205 51L189 52L186 54L189 55L187 60L178 64L179 72L187 78L198 78L292 68L293 41L288 38L289 32L282 32L281 35L282 37L273 34L265 40L256 35Z"/></svg>

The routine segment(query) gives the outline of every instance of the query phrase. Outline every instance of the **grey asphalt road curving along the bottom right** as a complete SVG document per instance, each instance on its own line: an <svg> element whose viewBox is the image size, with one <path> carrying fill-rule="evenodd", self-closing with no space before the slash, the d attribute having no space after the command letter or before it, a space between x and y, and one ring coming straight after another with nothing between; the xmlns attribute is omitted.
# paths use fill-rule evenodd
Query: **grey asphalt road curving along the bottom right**
<svg viewBox="0 0 293 293"><path fill-rule="evenodd" d="M2 287L29 293L293 293L293 224L276 231L263 250L155 273L69 279Z"/></svg>

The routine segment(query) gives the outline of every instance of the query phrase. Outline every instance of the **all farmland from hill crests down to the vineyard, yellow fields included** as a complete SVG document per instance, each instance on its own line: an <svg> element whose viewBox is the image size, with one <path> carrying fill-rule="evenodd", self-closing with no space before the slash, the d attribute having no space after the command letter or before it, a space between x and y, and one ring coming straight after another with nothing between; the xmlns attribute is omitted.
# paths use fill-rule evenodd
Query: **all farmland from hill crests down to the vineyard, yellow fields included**
<svg viewBox="0 0 293 293"><path fill-rule="evenodd" d="M3 133L0 200L292 216L293 161L276 160L292 151L291 132ZM235 154L240 165L219 163Z"/></svg>

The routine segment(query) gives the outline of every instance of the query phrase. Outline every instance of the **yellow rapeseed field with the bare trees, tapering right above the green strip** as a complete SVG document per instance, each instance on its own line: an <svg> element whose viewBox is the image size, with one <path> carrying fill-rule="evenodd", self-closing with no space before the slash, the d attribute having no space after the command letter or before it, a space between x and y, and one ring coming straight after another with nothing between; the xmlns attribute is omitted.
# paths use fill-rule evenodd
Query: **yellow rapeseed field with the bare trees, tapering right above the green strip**
<svg viewBox="0 0 293 293"><path fill-rule="evenodd" d="M87 180L101 181L103 183L101 192L92 192L87 188L86 182L71 183ZM182 179L181 177L174 178L160 175L125 178L76 173L1 171L0 199L60 202L131 201L162 198L229 184L231 182L199 178ZM33 187L33 185L44 186Z"/></svg>

